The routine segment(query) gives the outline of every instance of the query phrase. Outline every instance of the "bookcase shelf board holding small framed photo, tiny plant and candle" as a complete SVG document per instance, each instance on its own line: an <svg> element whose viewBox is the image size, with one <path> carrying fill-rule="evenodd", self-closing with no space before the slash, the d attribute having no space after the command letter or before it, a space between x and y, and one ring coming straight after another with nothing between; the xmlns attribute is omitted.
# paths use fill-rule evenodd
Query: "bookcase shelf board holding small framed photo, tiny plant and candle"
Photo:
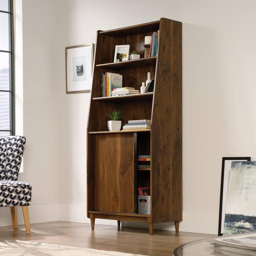
<svg viewBox="0 0 256 256"><path fill-rule="evenodd" d="M97 68L111 68L111 69L129 69L129 68L140 68L140 67L148 67L156 65L156 56L142 58L137 60L127 60L120 62L112 62L105 64L96 65Z"/></svg>

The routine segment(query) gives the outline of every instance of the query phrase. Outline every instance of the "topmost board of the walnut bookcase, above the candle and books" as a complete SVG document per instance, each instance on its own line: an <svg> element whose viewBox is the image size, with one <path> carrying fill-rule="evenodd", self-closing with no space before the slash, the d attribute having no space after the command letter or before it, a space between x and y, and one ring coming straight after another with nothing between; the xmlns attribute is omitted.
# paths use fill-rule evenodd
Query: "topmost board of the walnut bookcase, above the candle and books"
<svg viewBox="0 0 256 256"><path fill-rule="evenodd" d="M160 20L143 23L135 26L100 31L100 34L114 37L138 35L159 30Z"/></svg>

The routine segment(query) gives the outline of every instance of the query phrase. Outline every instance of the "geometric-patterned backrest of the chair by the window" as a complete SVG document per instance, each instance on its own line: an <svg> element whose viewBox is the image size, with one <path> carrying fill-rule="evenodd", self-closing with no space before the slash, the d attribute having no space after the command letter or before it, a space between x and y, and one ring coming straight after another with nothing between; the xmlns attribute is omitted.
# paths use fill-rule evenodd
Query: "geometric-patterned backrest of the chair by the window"
<svg viewBox="0 0 256 256"><path fill-rule="evenodd" d="M24 136L0 136L0 180L18 180L25 145Z"/></svg>

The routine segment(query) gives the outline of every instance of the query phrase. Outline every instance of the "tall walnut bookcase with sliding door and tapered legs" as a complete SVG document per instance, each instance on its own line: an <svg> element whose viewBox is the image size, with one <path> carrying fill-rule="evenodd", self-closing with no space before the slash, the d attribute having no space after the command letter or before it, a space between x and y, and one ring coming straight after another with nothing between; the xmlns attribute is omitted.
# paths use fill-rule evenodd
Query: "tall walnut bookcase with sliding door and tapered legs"
<svg viewBox="0 0 256 256"><path fill-rule="evenodd" d="M160 30L157 57L144 58L144 37ZM138 60L113 63L116 45L139 51ZM140 88L147 72L153 93L100 97L100 73L123 75L123 87ZM123 111L128 120L151 119L151 130L109 132L107 115ZM137 156L151 155L151 168L137 170ZM150 186L151 213L138 214L138 187ZM87 217L148 222L182 220L182 23L166 18L97 31L87 126Z"/></svg>

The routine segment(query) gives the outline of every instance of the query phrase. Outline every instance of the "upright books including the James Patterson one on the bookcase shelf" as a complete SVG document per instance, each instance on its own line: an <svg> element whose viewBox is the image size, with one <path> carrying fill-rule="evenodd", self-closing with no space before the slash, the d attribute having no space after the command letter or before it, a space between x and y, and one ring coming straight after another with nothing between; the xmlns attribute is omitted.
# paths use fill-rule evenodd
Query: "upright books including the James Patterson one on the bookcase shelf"
<svg viewBox="0 0 256 256"><path fill-rule="evenodd" d="M101 97L110 97L113 89L122 88L123 86L123 76L115 73L101 72L100 81Z"/></svg>

